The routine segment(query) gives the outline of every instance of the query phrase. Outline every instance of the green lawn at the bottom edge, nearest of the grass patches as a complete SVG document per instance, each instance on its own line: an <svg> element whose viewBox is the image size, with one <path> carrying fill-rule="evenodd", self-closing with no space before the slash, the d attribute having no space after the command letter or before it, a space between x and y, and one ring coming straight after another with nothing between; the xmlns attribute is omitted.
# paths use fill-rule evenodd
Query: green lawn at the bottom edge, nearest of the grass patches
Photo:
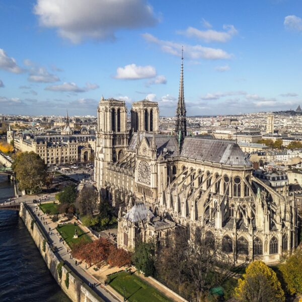
<svg viewBox="0 0 302 302"><path fill-rule="evenodd" d="M119 272L109 276L109 285L130 302L170 302L171 300L134 274Z"/></svg>

